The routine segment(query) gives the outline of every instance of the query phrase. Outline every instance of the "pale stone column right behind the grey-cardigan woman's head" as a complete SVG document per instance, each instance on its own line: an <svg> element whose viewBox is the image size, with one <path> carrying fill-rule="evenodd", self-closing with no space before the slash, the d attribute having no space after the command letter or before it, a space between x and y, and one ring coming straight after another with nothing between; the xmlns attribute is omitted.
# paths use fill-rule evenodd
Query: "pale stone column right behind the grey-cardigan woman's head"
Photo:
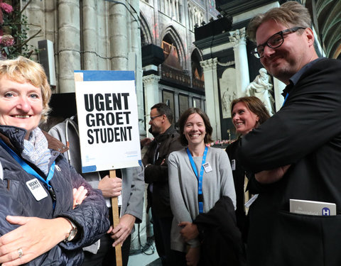
<svg viewBox="0 0 341 266"><path fill-rule="evenodd" d="M210 118L213 128L212 138L221 140L222 133L220 129L220 110L219 110L219 93L218 93L218 77L217 77L217 58L210 58L200 61L200 65L204 70L205 77L205 97L206 97L206 113Z"/></svg>

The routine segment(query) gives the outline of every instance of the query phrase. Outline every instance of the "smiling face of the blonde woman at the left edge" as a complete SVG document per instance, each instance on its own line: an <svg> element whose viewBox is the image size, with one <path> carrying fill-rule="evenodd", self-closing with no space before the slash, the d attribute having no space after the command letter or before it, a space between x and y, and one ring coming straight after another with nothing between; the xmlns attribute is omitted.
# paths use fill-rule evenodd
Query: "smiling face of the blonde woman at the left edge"
<svg viewBox="0 0 341 266"><path fill-rule="evenodd" d="M41 89L31 83L0 78L0 124L25 128L26 139L40 122L43 111Z"/></svg>

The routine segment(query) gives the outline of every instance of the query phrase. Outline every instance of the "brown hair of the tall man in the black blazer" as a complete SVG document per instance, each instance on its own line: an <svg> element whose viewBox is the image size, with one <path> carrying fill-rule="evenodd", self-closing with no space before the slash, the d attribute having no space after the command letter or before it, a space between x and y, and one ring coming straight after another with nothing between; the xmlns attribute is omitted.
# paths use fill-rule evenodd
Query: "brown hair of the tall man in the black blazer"
<svg viewBox="0 0 341 266"><path fill-rule="evenodd" d="M311 18L308 9L296 1L288 1L279 7L270 9L266 13L261 13L249 22L247 26L247 35L249 39L256 42L256 31L258 27L266 21L276 21L276 23L281 23L288 28L297 26L303 28L310 28Z"/></svg>

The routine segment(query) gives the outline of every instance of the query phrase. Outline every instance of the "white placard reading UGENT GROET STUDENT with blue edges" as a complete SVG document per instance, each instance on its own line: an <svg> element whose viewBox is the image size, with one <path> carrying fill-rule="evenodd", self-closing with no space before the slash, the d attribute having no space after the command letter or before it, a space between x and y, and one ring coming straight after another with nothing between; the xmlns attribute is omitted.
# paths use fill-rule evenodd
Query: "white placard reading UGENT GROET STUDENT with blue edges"
<svg viewBox="0 0 341 266"><path fill-rule="evenodd" d="M75 71L75 92L82 172L138 166L134 72Z"/></svg>

